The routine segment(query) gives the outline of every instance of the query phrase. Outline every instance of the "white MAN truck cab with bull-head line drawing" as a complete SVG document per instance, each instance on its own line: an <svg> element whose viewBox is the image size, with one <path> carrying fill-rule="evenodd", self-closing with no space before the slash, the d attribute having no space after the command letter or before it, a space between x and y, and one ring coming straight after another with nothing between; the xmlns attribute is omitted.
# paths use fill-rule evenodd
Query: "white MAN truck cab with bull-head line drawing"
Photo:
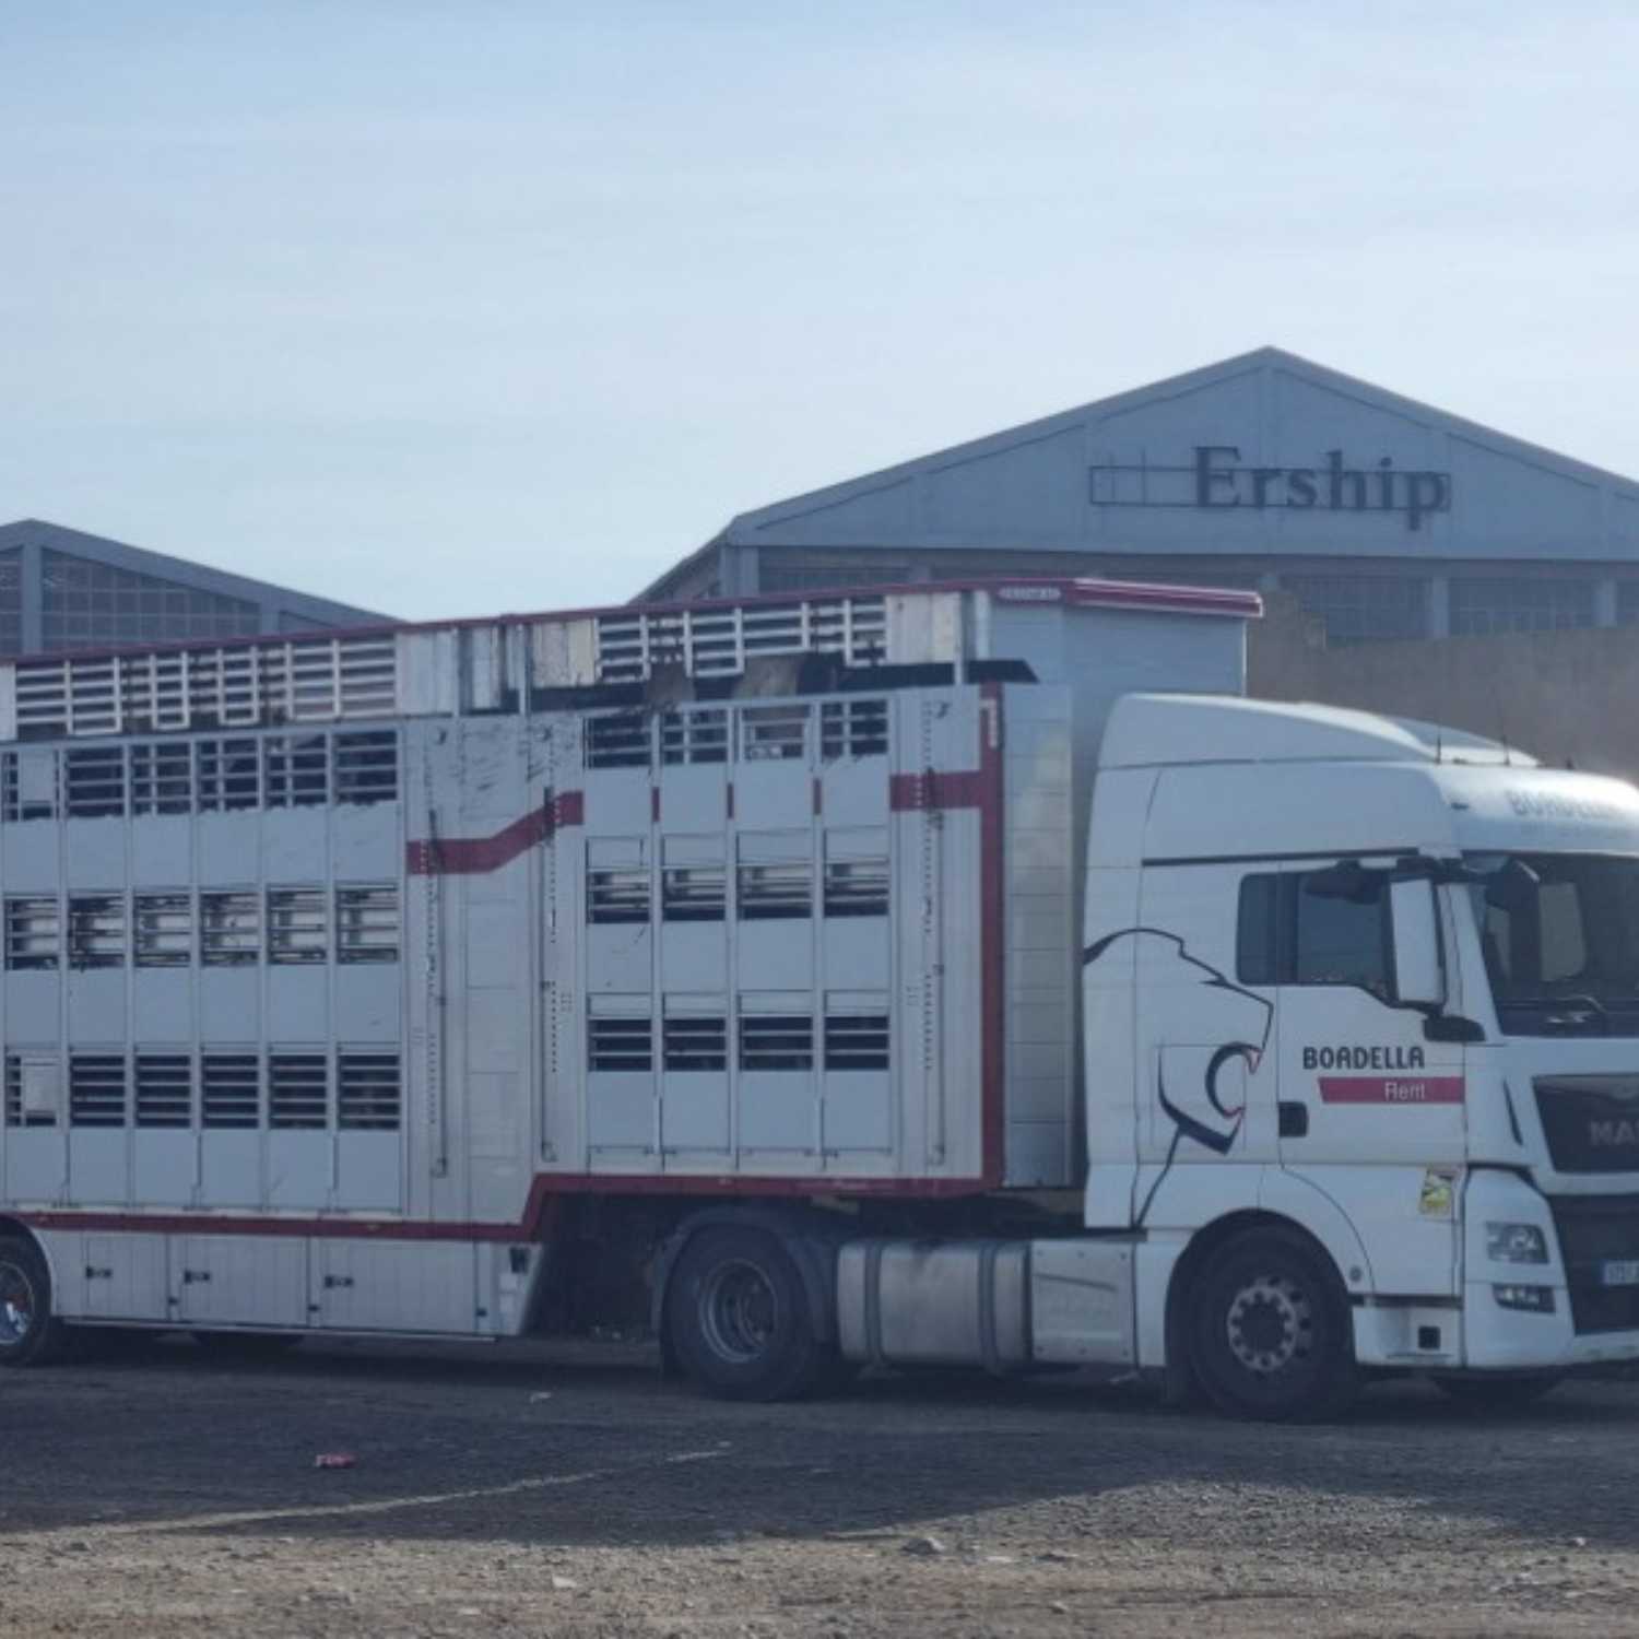
<svg viewBox="0 0 1639 1639"><path fill-rule="evenodd" d="M1087 1224L1139 1236L1141 1360L1193 1342L1257 1408L1328 1349L1493 1398L1639 1354L1631 787L1423 723L1129 697L1083 974ZM1180 1265L1205 1295L1169 1339Z"/></svg>

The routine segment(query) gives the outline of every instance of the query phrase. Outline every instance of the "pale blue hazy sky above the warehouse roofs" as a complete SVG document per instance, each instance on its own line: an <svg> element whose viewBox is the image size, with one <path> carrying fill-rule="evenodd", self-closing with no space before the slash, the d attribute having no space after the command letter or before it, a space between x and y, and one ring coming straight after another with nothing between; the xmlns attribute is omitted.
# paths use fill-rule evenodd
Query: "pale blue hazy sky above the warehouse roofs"
<svg viewBox="0 0 1639 1639"><path fill-rule="evenodd" d="M0 0L0 523L395 616L1275 344L1639 475L1639 7Z"/></svg>

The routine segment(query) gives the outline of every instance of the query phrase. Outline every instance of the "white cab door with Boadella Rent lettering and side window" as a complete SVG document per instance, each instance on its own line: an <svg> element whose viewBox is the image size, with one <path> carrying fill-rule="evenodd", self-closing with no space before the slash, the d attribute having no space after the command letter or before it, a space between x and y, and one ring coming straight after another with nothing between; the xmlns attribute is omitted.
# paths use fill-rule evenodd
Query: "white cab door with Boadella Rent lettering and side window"
<svg viewBox="0 0 1639 1639"><path fill-rule="evenodd" d="M1387 870L1369 865L1352 890L1347 865L1247 875L1242 959L1277 980L1282 1167L1344 1208L1380 1290L1444 1292L1455 1252L1441 1180L1464 1159L1462 1047L1431 1042L1426 1015L1396 1003Z"/></svg>

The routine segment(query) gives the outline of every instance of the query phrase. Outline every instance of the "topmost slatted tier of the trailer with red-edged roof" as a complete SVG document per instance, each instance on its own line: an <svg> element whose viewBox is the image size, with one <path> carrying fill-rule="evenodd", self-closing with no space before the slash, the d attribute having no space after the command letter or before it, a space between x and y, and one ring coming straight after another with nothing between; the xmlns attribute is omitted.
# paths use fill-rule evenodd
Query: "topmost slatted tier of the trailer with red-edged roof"
<svg viewBox="0 0 1639 1639"><path fill-rule="evenodd" d="M620 703L764 662L847 672L1005 659L997 605L1252 620L1255 593L1095 579L944 582L252 636L0 662L0 741Z"/></svg>

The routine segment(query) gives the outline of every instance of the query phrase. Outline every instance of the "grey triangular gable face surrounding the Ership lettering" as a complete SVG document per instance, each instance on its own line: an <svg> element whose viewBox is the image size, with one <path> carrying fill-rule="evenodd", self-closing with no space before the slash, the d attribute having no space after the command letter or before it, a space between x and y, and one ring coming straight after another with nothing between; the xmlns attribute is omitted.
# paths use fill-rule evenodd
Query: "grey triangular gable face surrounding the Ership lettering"
<svg viewBox="0 0 1639 1639"><path fill-rule="evenodd" d="M1103 508L1095 469L1162 472L1201 444L1244 446L1247 467L1318 462L1347 446L1400 470L1451 475L1451 515L1392 552L1639 557L1639 484L1449 415L1282 347L1257 347L734 516L703 551L985 547L1067 551L1349 551L1344 520L1257 520L1182 508ZM1165 516L1162 516L1165 515ZM1228 528L1233 523L1234 528ZM1247 538L1260 526L1259 544ZM1282 546L1285 531L1292 544ZM1213 533L1216 531L1216 534ZM1511 539L1518 534L1518 539ZM1270 544L1270 536L1275 538ZM1301 539L1301 546L1298 544ZM1360 543L1354 551L1373 551ZM700 554L693 554L688 561ZM679 565L682 567L682 565ZM656 585L677 574L670 570ZM652 593L654 588L651 588ZM649 593L646 593L649 595Z"/></svg>

